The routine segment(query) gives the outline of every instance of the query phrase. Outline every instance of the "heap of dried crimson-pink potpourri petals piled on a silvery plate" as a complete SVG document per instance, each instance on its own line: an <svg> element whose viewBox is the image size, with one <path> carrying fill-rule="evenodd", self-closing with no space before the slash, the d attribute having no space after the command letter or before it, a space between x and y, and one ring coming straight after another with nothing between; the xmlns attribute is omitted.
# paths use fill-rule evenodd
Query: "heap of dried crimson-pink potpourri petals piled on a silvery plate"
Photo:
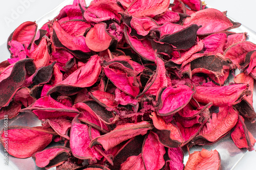
<svg viewBox="0 0 256 170"><path fill-rule="evenodd" d="M3 129L8 154L57 170L180 170L220 169L216 150L186 165L183 153L225 135L253 151L256 44L205 6L75 0L38 30L22 23L0 63L0 118L27 113L42 126Z"/></svg>

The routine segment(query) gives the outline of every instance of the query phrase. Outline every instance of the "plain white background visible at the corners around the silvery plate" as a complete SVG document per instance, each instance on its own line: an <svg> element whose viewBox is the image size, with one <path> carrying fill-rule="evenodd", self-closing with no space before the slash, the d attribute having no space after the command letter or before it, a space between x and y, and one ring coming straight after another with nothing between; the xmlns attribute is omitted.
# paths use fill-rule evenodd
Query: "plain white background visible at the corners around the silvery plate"
<svg viewBox="0 0 256 170"><path fill-rule="evenodd" d="M2 48L6 46L8 36L21 23L28 20L37 21L38 18L63 2L65 3L64 0L2 0L0 3L0 51L2 52ZM205 3L220 11L227 11L228 16L256 31L256 2L252 0L205 0ZM1 61L8 57L0 53ZM256 169L256 152L247 153L234 169Z"/></svg>

